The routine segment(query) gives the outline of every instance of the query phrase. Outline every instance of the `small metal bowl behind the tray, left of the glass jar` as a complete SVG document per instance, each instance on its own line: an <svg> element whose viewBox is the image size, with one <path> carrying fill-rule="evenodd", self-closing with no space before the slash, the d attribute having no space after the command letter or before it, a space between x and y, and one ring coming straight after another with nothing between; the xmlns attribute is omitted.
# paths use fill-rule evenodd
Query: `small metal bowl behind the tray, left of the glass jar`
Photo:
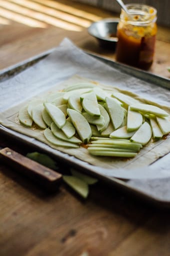
<svg viewBox="0 0 170 256"><path fill-rule="evenodd" d="M88 28L88 33L97 39L101 47L114 51L117 42L116 31L118 22L119 19L113 18L94 22Z"/></svg>

